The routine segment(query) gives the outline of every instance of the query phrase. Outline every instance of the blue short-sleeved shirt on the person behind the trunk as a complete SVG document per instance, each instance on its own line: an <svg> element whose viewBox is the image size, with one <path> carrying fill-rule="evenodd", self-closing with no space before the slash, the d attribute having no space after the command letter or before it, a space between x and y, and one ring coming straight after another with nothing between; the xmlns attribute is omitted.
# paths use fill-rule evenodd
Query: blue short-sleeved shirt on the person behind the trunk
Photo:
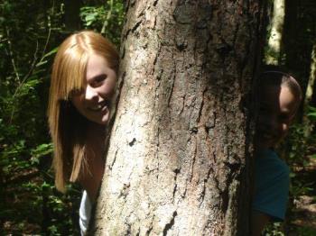
<svg viewBox="0 0 316 236"><path fill-rule="evenodd" d="M283 221L289 196L290 169L274 150L261 150L255 159L253 210Z"/></svg>

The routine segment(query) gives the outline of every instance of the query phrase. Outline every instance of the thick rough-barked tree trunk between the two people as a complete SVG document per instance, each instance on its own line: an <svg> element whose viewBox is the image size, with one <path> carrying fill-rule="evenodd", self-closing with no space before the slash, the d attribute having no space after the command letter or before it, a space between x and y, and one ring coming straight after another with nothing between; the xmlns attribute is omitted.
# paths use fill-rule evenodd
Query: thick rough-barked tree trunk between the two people
<svg viewBox="0 0 316 236"><path fill-rule="evenodd" d="M255 1L128 1L95 235L248 235Z"/></svg>

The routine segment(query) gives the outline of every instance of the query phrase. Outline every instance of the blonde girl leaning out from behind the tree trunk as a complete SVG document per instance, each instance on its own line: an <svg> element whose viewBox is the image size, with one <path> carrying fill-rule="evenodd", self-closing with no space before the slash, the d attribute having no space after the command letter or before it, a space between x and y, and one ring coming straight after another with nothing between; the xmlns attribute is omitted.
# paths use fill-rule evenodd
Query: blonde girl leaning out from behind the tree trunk
<svg viewBox="0 0 316 236"><path fill-rule="evenodd" d="M51 73L48 120L54 145L55 185L83 187L82 234L104 172L104 141L116 88L119 57L102 35L83 31L60 45Z"/></svg>

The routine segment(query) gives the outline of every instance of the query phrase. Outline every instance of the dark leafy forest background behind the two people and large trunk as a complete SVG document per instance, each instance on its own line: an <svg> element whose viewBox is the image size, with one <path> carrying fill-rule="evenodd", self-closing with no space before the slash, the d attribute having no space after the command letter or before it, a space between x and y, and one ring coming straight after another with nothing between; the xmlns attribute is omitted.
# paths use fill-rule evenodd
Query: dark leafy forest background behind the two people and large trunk
<svg viewBox="0 0 316 236"><path fill-rule="evenodd" d="M46 122L51 62L81 29L101 32L117 48L125 10L119 0L0 2L0 231L79 234L79 186L57 192ZM266 235L316 234L316 2L270 0L263 64L297 77L304 101L279 152L291 168L286 221Z"/></svg>

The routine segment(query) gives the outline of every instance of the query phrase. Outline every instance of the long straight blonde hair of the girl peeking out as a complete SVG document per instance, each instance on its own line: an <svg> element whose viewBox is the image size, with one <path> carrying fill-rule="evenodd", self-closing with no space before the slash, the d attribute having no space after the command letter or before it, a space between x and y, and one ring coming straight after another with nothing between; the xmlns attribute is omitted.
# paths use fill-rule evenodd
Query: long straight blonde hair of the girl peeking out
<svg viewBox="0 0 316 236"><path fill-rule="evenodd" d="M102 35L91 31L74 33L63 41L52 66L48 121L54 145L55 185L61 192L65 192L66 182L78 180L80 170L87 166L88 120L79 114L70 97L84 88L91 54L107 59L108 66L117 72L119 56L115 47Z"/></svg>

